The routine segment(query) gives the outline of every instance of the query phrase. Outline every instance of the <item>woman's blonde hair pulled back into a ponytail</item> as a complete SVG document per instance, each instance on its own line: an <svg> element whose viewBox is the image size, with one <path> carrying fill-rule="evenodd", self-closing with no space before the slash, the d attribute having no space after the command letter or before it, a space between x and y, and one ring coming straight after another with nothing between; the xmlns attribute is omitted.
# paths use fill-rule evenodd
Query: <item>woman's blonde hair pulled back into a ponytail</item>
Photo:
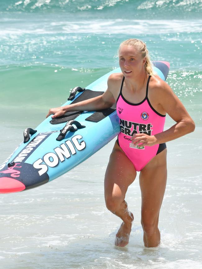
<svg viewBox="0 0 202 269"><path fill-rule="evenodd" d="M140 39L135 39L135 38L130 38L127 40L124 40L119 48L118 48L118 54L119 54L119 50L121 48L122 45L130 45L130 46L134 46L135 48L137 48L139 50L139 52L142 54L142 58L146 58L146 62L145 62L145 72L148 75L154 75L155 72L153 70L153 64L150 60L150 56L149 56L149 52L147 50L146 44L140 40Z"/></svg>

